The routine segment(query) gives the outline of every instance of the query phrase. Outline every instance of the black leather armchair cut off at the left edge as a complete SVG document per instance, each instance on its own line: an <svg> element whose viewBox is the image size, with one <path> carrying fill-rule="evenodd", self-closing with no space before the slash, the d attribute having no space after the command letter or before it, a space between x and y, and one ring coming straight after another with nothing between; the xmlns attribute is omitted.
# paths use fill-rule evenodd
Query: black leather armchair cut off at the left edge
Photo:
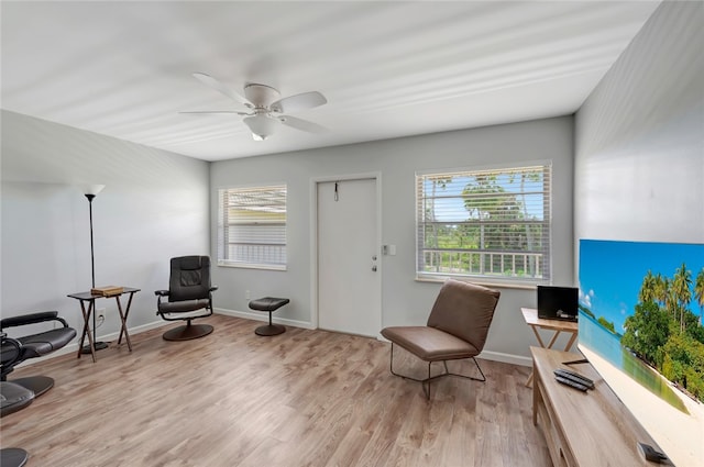
<svg viewBox="0 0 704 467"><path fill-rule="evenodd" d="M6 334L6 330L9 327L40 323L59 323L61 327L16 338ZM28 358L48 355L64 347L76 337L76 330L70 327L63 318L59 318L56 311L42 311L20 316L4 318L0 320L0 327L2 327L2 346L0 352L2 362L0 375L2 381L7 381L8 375L14 370L14 367ZM43 394L54 386L54 379L47 376L31 376L14 379L12 382L30 389L34 392L35 397Z"/></svg>

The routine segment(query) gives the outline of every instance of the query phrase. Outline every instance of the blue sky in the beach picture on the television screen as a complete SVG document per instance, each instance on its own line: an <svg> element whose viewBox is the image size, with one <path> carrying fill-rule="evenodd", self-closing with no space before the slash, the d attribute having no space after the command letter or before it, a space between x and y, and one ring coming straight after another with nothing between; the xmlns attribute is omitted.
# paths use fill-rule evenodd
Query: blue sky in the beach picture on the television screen
<svg viewBox="0 0 704 467"><path fill-rule="evenodd" d="M694 281L704 267L704 245L685 243L580 241L580 302L598 316L614 322L623 333L626 316L634 313L642 279L651 270L672 278L686 264ZM690 310L698 314L692 301Z"/></svg>

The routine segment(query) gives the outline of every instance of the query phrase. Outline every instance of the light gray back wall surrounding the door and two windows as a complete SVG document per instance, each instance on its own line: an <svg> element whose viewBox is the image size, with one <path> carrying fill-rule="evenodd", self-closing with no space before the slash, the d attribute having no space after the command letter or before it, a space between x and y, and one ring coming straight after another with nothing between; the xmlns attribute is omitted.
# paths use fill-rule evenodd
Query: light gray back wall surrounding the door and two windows
<svg viewBox="0 0 704 467"><path fill-rule="evenodd" d="M387 140L315 151L257 156L211 164L212 251L216 256L217 191L219 188L286 182L288 185L287 271L217 267L220 312L246 315L245 291L283 296L292 303L277 318L311 326L312 179L351 174L381 174L382 243L395 244L396 256L382 258L382 323L425 323L440 283L415 280L415 173L417 170L553 162L554 282L573 283L572 155L573 119L563 116L474 130ZM535 336L525 325L520 307L535 307L535 289L502 289L485 355L527 363ZM260 316L255 316L260 318Z"/></svg>

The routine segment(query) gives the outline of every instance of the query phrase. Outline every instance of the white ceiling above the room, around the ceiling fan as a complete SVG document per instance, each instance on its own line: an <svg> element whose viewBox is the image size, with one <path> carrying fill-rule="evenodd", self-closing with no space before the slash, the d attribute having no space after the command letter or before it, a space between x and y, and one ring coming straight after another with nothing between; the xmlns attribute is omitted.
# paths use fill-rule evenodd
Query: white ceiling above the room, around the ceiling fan
<svg viewBox="0 0 704 467"><path fill-rule="evenodd" d="M3 109L205 159L573 113L659 2L1 3ZM254 142L242 93L318 90L328 103Z"/></svg>

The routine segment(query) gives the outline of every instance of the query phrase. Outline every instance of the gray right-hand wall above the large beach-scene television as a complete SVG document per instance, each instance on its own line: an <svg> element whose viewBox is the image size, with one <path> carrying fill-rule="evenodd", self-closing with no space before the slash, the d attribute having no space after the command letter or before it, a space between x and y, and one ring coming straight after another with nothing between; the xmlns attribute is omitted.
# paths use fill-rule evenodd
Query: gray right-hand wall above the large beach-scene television
<svg viewBox="0 0 704 467"><path fill-rule="evenodd" d="M704 243L704 4L666 2L575 119L580 238Z"/></svg>

